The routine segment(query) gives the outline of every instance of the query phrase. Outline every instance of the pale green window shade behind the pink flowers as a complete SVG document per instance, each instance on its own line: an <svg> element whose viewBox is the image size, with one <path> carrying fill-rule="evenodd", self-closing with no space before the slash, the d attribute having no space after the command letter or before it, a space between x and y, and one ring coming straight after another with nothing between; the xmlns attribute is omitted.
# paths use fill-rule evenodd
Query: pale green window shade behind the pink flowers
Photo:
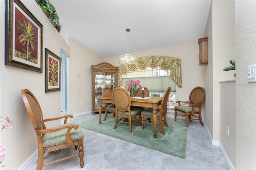
<svg viewBox="0 0 256 170"><path fill-rule="evenodd" d="M148 88L149 91L165 91L170 86L171 91L176 92L176 83L170 76L123 78L121 87L125 87L127 80L139 80L140 85Z"/></svg>

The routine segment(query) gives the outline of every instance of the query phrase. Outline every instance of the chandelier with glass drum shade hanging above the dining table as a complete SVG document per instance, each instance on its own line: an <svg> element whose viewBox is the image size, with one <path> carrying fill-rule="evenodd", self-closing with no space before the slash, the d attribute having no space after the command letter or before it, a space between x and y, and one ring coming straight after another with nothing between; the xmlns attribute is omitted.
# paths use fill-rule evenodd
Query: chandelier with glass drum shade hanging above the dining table
<svg viewBox="0 0 256 170"><path fill-rule="evenodd" d="M127 54L123 54L119 56L119 63L120 64L136 64L137 63L137 56L134 54L129 54L129 36L128 33L130 32L130 28L126 28L127 32Z"/></svg>

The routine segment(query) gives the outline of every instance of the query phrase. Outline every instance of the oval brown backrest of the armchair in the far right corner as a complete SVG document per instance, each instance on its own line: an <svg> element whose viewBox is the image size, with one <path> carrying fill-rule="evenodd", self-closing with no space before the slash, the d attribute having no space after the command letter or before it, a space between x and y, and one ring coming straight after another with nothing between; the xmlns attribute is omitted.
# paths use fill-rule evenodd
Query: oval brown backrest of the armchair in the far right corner
<svg viewBox="0 0 256 170"><path fill-rule="evenodd" d="M203 87L195 87L189 95L189 103L202 105L205 97L205 91Z"/></svg>

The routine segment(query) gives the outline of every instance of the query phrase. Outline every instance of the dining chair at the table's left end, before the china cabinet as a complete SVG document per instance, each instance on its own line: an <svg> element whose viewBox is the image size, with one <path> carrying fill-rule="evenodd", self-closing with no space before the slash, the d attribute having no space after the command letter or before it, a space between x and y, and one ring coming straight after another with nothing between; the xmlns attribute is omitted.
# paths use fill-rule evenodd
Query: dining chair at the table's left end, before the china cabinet
<svg viewBox="0 0 256 170"><path fill-rule="evenodd" d="M104 89L102 90L102 97L108 97L108 96L112 96L113 90L110 87L104 87ZM112 114L112 116L110 116L110 114ZM116 106L113 104L109 104L106 103L106 108L105 108L105 116L103 121L106 121L107 117L115 117L115 113L116 113Z"/></svg>

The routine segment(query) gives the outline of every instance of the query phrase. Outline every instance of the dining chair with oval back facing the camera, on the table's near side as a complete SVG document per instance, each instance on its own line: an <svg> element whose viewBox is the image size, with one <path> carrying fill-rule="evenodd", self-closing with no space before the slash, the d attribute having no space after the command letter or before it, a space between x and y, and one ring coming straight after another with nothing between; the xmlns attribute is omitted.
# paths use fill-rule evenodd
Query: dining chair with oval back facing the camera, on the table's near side
<svg viewBox="0 0 256 170"><path fill-rule="evenodd" d="M129 133L132 132L132 125L134 123L139 122L139 125L141 126L141 117L140 117L140 109L132 108L131 104L131 96L130 94L121 87L116 87L113 90L113 101L116 106L116 115L115 115L115 125L114 129L117 127L118 122L127 123L129 124ZM124 121L122 119L119 119L118 117L124 118ZM139 117L138 120L132 122L132 118ZM128 119L128 122L125 121L125 119Z"/></svg>

